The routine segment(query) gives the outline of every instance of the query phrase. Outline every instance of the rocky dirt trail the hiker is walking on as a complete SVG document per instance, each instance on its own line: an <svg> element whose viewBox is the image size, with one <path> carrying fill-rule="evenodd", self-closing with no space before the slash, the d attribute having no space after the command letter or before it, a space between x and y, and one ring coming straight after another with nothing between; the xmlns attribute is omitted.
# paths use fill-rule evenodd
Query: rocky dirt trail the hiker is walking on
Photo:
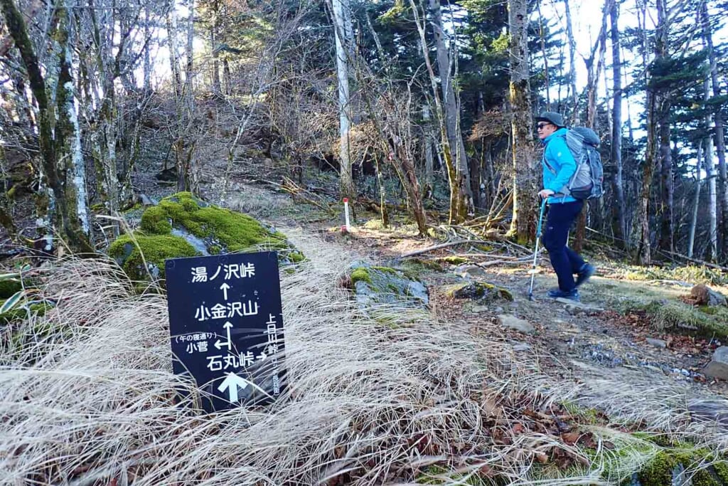
<svg viewBox="0 0 728 486"><path fill-rule="evenodd" d="M158 197L170 192L156 184L149 184L147 189ZM203 195L210 202L221 203L221 184L208 184ZM331 214L312 205L294 203L290 195L274 192L270 187L251 184L250 177L244 175L233 177L223 205L251 213L277 227L300 227L318 233L329 244L345 246L377 264L399 264L401 256L408 251L437 243L405 232L363 227L357 227L352 235L343 237L339 232L331 231L342 223L336 217L332 218ZM449 251L444 249L427 256L445 256ZM446 264L443 272L424 271L419 278L429 287L432 310L440 319L462 324L472 332L474 339L483 336L504 342L521 358L530 357L536 361L546 375L582 385L580 399L587 404L610 404L613 409L629 412L622 408L620 399L624 398L633 406L639 396L650 396L645 404L664 402L671 412L684 410L693 418L711 423L716 420L728 431L728 402L725 401L728 385L706 380L700 374L718 343L690 340L651 329L640 315L625 317L610 310L608 300L604 299L606 294L635 291L636 286L638 291L651 287L650 291L672 295L685 294L689 289L609 278L608 264L595 263L600 266L598 275L601 276L584 286L582 302L604 309L601 312L569 309L563 303L547 299L545 292L553 288L556 281L545 259L540 261L542 273L536 278L534 302L526 297L530 281L528 265L475 271L471 267L464 275L462 266ZM514 301L478 305L454 301L443 294L444 285L463 278L502 286L513 294ZM523 334L505 329L497 318L502 314L529 321L535 332ZM656 345L646 342L646 337L657 340L654 341ZM660 347L662 342L664 348ZM654 408L654 405L649 407ZM649 409L634 411L636 415L649 412Z"/></svg>

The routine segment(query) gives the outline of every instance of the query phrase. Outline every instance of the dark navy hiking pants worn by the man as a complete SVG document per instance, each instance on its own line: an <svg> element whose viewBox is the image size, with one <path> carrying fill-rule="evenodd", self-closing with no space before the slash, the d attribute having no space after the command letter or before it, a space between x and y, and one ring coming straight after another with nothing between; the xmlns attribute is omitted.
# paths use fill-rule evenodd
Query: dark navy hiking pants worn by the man
<svg viewBox="0 0 728 486"><path fill-rule="evenodd" d="M546 227L541 238L544 248L548 250L551 266L558 275L558 288L565 292L574 290L574 273L579 273L584 267L584 259L566 246L571 224L582 212L583 205L582 200L549 204Z"/></svg>

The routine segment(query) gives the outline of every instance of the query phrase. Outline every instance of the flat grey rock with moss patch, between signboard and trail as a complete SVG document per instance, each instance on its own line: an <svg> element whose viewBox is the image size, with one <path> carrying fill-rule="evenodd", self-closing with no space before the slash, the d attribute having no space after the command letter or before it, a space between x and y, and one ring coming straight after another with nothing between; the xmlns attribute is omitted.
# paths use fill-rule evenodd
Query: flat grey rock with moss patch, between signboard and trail
<svg viewBox="0 0 728 486"><path fill-rule="evenodd" d="M414 275L392 267L371 267L368 264L352 264L349 279L360 305L410 302L427 306L427 287Z"/></svg>

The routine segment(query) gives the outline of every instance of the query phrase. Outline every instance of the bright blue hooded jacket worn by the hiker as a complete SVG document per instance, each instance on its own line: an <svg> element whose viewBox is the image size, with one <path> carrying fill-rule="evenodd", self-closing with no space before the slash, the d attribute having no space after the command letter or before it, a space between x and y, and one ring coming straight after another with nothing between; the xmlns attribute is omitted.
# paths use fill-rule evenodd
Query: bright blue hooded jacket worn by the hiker
<svg viewBox="0 0 728 486"><path fill-rule="evenodd" d="M542 144L545 144L544 156L541 160L543 187L555 192L555 195L548 198L549 204L571 203L576 200L574 197L561 193L561 189L569 184L569 179L577 171L577 162L574 160L574 156L571 155L569 146L566 145L566 133L568 131L566 128L559 128L542 140Z"/></svg>

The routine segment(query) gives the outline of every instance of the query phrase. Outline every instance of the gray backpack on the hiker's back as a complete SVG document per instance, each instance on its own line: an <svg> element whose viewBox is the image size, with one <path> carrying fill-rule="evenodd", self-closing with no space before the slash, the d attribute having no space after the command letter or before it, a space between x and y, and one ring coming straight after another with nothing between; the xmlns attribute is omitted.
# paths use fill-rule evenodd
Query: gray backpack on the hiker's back
<svg viewBox="0 0 728 486"><path fill-rule="evenodd" d="M604 195L604 165L599 154L599 137L591 128L574 127L566 132L566 146L577 162L577 171L561 191L575 199L598 199ZM546 167L556 173L546 161Z"/></svg>

